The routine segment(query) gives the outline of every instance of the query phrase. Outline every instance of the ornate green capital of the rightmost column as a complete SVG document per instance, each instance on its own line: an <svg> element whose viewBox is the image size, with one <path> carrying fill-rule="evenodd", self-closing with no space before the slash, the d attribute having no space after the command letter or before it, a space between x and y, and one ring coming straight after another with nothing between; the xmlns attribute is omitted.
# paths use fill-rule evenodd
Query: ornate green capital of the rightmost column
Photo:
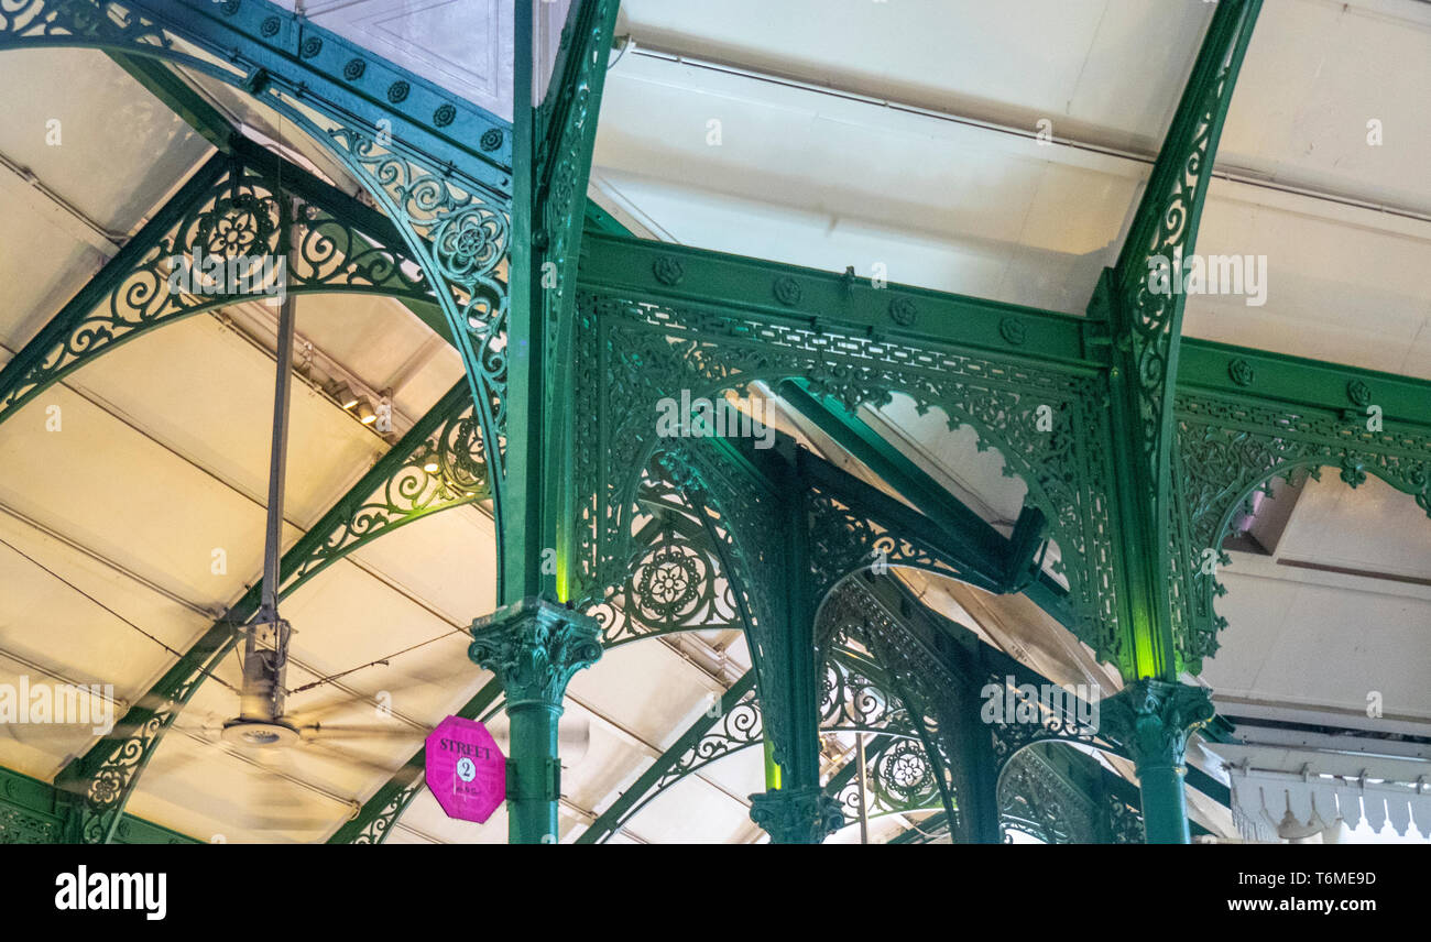
<svg viewBox="0 0 1431 942"><path fill-rule="evenodd" d="M1155 769L1183 775L1188 736L1216 713L1203 687L1152 679L1129 683L1102 710L1105 730L1128 749L1139 776Z"/></svg>

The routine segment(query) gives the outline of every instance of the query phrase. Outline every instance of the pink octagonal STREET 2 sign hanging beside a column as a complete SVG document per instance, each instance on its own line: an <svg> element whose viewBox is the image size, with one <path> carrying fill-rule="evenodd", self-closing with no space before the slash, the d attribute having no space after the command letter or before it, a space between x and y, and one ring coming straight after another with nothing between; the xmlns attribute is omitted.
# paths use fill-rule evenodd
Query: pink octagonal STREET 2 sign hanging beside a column
<svg viewBox="0 0 1431 942"><path fill-rule="evenodd" d="M507 756L485 726L449 716L426 746L428 787L448 817L482 823L507 800Z"/></svg>

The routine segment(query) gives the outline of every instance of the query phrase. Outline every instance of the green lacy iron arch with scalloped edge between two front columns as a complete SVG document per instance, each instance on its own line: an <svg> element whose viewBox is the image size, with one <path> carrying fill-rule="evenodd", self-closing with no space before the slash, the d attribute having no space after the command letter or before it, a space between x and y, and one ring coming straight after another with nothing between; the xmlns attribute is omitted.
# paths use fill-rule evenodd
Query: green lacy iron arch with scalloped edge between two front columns
<svg viewBox="0 0 1431 942"><path fill-rule="evenodd" d="M899 392L920 412L939 408L950 428L969 425L980 447L1000 450L1005 472L1023 478L1063 550L1076 633L1116 659L1099 379L591 286L578 292L575 346L575 397L595 409L594 421L578 424L574 448L580 581L607 581L601 573L624 557L622 518L643 455L657 447L661 399L714 401L754 381L791 378L846 405L889 402ZM1053 431L1039 431L1040 407L1059 417Z"/></svg>

